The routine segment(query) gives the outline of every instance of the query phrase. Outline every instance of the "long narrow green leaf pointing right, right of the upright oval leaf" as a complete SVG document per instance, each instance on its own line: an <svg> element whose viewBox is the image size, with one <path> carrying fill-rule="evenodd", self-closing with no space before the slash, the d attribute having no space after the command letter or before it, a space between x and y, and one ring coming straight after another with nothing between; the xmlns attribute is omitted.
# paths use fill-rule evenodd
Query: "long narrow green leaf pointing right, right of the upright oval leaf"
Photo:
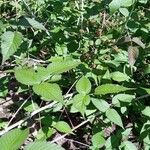
<svg viewBox="0 0 150 150"><path fill-rule="evenodd" d="M117 84L103 84L101 86L98 86L95 89L95 94L96 95L106 95L106 94L111 94L111 93L119 93L119 92L124 92L127 90L131 90L132 88L127 88L124 86L120 86Z"/></svg>

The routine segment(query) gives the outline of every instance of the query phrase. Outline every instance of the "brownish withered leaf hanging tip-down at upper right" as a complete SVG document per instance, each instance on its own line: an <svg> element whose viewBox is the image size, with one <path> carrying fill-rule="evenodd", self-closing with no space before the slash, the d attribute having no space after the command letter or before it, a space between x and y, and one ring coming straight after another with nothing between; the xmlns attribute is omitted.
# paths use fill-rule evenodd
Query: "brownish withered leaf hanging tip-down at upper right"
<svg viewBox="0 0 150 150"><path fill-rule="evenodd" d="M128 47L128 61L131 66L133 66L136 62L136 59L139 56L139 50L137 47Z"/></svg>

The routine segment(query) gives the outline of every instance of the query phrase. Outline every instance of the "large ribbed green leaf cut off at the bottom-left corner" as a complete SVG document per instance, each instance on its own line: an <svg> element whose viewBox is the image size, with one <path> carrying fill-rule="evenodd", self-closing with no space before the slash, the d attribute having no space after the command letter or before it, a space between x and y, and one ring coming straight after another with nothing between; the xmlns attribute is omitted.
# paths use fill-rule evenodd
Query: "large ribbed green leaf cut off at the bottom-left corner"
<svg viewBox="0 0 150 150"><path fill-rule="evenodd" d="M0 138L1 150L17 150L28 137L29 130L13 129Z"/></svg>

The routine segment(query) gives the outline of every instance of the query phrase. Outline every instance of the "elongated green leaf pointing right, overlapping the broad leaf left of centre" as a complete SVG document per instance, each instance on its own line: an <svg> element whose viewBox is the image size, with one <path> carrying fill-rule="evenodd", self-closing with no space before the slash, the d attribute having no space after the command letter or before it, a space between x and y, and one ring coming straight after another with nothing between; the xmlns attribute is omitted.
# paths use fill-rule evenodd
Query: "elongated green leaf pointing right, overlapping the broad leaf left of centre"
<svg viewBox="0 0 150 150"><path fill-rule="evenodd" d="M47 69L50 74L61 74L77 67L79 64L80 62L77 61L52 62Z"/></svg>

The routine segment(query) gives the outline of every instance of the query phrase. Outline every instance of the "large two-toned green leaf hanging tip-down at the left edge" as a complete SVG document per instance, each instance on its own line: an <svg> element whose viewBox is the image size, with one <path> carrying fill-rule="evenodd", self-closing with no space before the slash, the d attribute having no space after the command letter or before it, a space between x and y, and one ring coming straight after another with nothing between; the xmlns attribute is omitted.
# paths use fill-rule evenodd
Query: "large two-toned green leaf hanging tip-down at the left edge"
<svg viewBox="0 0 150 150"><path fill-rule="evenodd" d="M4 63L10 56L12 56L22 43L22 34L20 32L7 31L1 37L1 53L3 56L2 63Z"/></svg>

